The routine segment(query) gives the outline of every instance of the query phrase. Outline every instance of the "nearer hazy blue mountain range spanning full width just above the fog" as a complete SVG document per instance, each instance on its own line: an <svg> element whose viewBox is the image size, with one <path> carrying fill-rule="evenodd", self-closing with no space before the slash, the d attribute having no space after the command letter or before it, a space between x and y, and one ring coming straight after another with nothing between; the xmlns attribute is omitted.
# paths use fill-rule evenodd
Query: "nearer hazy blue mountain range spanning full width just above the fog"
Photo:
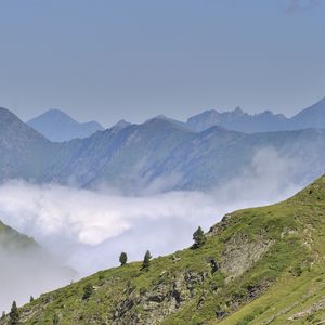
<svg viewBox="0 0 325 325"><path fill-rule="evenodd" d="M195 132L157 117L54 143L1 108L0 130L1 181L106 183L132 193L209 190L242 176L268 148L295 159L292 177L299 181L312 180L325 167L325 130L316 129L248 134L211 127Z"/></svg>

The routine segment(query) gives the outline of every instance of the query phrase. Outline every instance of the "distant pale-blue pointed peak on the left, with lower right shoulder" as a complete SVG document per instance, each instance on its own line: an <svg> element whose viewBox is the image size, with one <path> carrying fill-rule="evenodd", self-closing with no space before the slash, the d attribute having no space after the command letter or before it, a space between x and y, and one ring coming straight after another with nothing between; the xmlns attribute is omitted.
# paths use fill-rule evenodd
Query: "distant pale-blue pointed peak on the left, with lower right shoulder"
<svg viewBox="0 0 325 325"><path fill-rule="evenodd" d="M60 109L50 109L27 121L27 125L53 142L88 138L104 130L96 121L78 122Z"/></svg>

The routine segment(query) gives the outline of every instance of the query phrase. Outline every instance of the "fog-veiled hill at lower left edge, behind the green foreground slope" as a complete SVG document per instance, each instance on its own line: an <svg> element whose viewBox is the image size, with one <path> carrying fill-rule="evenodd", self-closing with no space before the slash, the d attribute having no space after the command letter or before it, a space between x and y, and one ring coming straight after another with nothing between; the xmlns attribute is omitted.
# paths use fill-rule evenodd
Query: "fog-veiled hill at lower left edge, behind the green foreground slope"
<svg viewBox="0 0 325 325"><path fill-rule="evenodd" d="M26 303L31 295L67 285L77 276L32 238L1 221L0 265L1 311L9 310L13 300Z"/></svg>

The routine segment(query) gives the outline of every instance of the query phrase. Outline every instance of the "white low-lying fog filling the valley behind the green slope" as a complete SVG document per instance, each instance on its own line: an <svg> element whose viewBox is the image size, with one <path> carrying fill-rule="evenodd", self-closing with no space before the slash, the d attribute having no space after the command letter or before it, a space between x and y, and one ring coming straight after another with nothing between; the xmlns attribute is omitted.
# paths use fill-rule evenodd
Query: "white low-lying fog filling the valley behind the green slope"
<svg viewBox="0 0 325 325"><path fill-rule="evenodd" d="M0 220L32 236L62 264L84 276L118 265L120 251L133 261L142 259L146 249L155 257L187 247L198 225L208 231L226 212L295 194L309 181L294 181L296 167L273 150L264 150L240 178L209 193L168 192L141 197L15 180L0 186ZM13 300L22 304L30 295L38 297L70 281L55 278L48 270L30 272L28 257L5 257L0 251L2 264L1 259L6 263L0 276L1 310L8 310ZM48 274L40 276L41 272Z"/></svg>

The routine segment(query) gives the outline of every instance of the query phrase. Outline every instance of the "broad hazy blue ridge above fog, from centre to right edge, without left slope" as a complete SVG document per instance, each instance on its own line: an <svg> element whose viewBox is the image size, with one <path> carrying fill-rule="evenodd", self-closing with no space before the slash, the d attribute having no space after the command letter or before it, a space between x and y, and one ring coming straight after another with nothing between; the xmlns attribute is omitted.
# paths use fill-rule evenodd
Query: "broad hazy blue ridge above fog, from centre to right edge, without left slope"
<svg viewBox="0 0 325 325"><path fill-rule="evenodd" d="M156 118L63 144L48 180L73 180L80 186L105 182L133 193L207 190L243 174L265 148L296 159L292 173L299 181L324 170L325 131L244 134L213 127L196 133Z"/></svg>

